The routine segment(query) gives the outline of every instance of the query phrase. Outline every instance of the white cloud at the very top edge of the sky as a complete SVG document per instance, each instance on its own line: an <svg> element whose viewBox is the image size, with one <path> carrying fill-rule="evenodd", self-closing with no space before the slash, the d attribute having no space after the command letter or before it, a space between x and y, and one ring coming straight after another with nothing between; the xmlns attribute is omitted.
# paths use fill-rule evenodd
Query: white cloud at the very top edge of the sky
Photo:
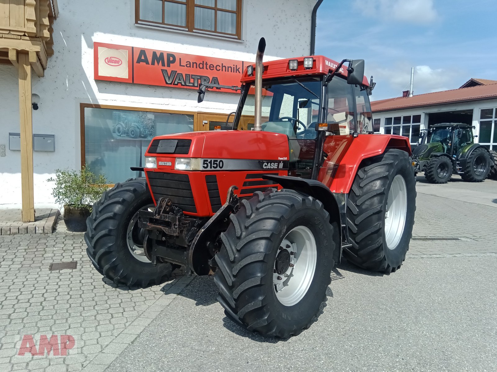
<svg viewBox="0 0 497 372"><path fill-rule="evenodd" d="M438 19L433 0L355 0L363 15L408 23L431 23Z"/></svg>

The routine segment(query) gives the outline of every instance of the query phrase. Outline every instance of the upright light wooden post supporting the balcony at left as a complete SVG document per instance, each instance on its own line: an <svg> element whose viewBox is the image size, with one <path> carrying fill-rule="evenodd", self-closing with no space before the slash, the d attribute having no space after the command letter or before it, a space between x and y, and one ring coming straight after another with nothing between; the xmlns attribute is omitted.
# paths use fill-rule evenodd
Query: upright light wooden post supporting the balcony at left
<svg viewBox="0 0 497 372"><path fill-rule="evenodd" d="M29 56L24 53L19 54L18 63L22 222L33 222L33 116L31 107L31 63L29 62Z"/></svg>

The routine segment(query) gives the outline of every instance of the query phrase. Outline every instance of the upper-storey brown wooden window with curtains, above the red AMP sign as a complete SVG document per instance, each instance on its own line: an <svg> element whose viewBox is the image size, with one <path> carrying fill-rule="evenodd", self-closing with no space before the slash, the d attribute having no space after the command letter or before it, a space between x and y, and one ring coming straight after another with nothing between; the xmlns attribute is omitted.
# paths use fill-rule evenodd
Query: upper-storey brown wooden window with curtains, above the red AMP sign
<svg viewBox="0 0 497 372"><path fill-rule="evenodd" d="M240 39L242 0L135 0L135 22Z"/></svg>

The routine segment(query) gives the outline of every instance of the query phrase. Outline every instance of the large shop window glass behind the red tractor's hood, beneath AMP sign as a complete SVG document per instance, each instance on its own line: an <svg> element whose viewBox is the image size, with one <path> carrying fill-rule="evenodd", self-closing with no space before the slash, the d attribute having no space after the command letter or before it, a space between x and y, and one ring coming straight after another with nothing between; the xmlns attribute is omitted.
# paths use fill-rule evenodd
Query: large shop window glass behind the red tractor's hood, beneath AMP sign
<svg viewBox="0 0 497 372"><path fill-rule="evenodd" d="M143 167L152 138L193 131L193 114L121 110L82 105L82 159L109 184L140 176L130 167ZM142 174L142 176L144 176Z"/></svg>

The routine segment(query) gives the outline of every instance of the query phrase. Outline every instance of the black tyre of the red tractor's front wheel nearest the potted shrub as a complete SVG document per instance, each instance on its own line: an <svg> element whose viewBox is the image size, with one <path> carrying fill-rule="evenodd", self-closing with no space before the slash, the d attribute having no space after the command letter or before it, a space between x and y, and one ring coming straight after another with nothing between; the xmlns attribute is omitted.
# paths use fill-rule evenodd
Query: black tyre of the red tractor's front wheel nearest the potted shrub
<svg viewBox="0 0 497 372"><path fill-rule="evenodd" d="M170 263L154 266L147 259L138 259L128 247L130 221L151 203L146 179L137 178L105 191L86 220L86 253L98 272L116 284L145 288L171 276Z"/></svg>

